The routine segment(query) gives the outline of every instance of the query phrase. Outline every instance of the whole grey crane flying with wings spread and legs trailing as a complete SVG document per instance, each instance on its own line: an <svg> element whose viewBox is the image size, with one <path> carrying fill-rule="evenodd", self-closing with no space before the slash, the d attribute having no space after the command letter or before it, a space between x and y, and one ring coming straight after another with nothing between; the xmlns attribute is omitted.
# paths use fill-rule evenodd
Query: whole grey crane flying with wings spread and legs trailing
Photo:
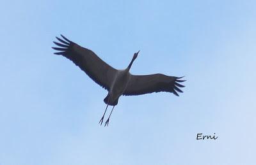
<svg viewBox="0 0 256 165"><path fill-rule="evenodd" d="M180 82L186 81L180 80L183 77L166 76L160 73L154 75L132 75L129 73L132 63L138 57L140 51L133 55L126 69L119 70L102 61L92 50L79 46L63 35L61 37L62 39L56 37L60 41L59 43L53 41L58 47L52 48L59 51L54 54L63 55L70 59L70 61L74 62L74 64L90 76L95 83L108 90L104 103L107 104L106 110L109 105L113 106L113 108L108 120L105 122L105 126L108 126L112 111L122 95L135 96L152 92L171 92L179 96L178 92L182 92L179 87L184 87L184 85L180 84ZM106 110L102 118L100 118L100 125L102 125Z"/></svg>

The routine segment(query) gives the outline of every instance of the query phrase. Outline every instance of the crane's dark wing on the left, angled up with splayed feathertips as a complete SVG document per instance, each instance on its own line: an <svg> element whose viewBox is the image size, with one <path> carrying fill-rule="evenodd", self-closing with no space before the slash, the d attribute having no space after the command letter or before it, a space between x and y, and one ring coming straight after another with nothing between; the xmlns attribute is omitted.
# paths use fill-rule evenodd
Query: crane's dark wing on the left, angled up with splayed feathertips
<svg viewBox="0 0 256 165"><path fill-rule="evenodd" d="M62 36L62 35L61 35ZM65 36L64 39L56 37L60 43L54 42L59 47L52 47L56 55L63 55L67 59L74 62L81 68L92 80L98 83L104 89L109 90L111 83L116 75L116 69L109 66L106 62L102 61L92 50L80 47L76 43L68 40Z"/></svg>

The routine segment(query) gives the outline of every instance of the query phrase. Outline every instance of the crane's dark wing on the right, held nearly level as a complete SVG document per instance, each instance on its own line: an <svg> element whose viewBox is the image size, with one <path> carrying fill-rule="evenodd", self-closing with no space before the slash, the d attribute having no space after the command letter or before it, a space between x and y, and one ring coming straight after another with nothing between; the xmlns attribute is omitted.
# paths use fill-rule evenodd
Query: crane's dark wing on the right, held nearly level
<svg viewBox="0 0 256 165"><path fill-rule="evenodd" d="M127 87L123 93L125 96L149 94L152 92L172 92L179 96L177 92L182 92L179 87L185 87L178 82L183 77L166 76L163 74L154 75L131 75Z"/></svg>

